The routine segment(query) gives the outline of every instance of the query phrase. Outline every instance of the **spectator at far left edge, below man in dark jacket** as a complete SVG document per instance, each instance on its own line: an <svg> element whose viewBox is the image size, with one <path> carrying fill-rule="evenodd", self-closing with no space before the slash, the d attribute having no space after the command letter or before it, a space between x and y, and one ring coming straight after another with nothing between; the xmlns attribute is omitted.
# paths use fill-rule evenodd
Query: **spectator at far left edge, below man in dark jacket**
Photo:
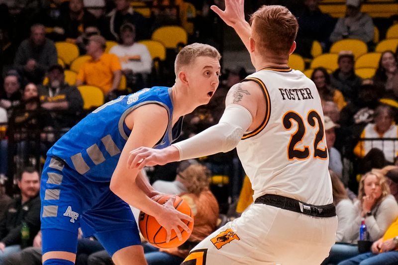
<svg viewBox="0 0 398 265"><path fill-rule="evenodd" d="M22 99L20 76L16 71L9 71L4 77L4 91L0 95L0 107L9 110L19 105Z"/></svg>

